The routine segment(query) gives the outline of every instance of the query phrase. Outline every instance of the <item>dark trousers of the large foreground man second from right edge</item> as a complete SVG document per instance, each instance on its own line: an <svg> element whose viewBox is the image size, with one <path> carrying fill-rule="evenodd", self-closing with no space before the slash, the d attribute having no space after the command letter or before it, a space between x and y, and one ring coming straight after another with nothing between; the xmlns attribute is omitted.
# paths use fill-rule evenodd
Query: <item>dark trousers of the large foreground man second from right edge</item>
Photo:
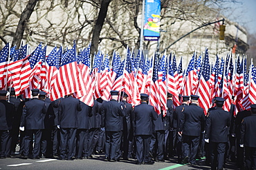
<svg viewBox="0 0 256 170"><path fill-rule="evenodd" d="M210 142L211 169L222 169L226 151L226 142Z"/></svg>

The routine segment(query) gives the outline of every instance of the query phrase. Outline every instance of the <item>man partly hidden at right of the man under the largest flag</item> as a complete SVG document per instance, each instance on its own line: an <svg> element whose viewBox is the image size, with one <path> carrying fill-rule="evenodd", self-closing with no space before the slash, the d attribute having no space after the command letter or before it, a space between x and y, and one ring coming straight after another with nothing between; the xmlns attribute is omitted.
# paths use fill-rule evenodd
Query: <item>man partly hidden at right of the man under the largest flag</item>
<svg viewBox="0 0 256 170"><path fill-rule="evenodd" d="M83 152L88 140L89 116L91 116L91 107L81 102L82 110L78 112L77 120L77 159L82 160Z"/></svg>

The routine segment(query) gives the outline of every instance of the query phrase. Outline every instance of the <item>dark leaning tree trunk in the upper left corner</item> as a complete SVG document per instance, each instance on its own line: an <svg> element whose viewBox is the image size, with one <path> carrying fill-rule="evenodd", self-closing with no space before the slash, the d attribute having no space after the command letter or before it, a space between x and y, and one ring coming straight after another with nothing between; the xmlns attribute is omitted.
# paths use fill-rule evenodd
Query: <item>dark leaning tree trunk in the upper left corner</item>
<svg viewBox="0 0 256 170"><path fill-rule="evenodd" d="M17 45L17 48L19 48L19 45L21 44L22 36L26 29L28 19L30 18L31 14L35 8L37 1L38 0L29 0L28 5L24 9L24 11L21 13L21 18L19 19L17 30L16 30L15 36L13 37L13 40L12 40L12 46Z"/></svg>

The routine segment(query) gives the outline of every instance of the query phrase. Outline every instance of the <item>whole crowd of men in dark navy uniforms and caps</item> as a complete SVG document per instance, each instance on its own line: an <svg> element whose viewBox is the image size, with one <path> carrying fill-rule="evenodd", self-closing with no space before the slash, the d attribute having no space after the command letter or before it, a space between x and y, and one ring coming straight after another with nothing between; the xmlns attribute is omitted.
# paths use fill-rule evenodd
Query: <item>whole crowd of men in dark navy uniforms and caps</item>
<svg viewBox="0 0 256 170"><path fill-rule="evenodd" d="M8 94L10 92L10 94ZM45 92L32 90L32 99L15 96L13 88L0 90L0 158L89 159L104 153L110 162L136 159L154 164L177 158L196 165L205 159L211 169L223 169L227 160L240 169L256 169L256 105L234 114L223 111L216 97L205 116L199 96L181 96L174 109L167 94L167 114L157 115L140 94L134 108L125 92L111 91L111 100L94 100L89 107L72 94L51 101ZM245 154L244 154L245 153Z"/></svg>

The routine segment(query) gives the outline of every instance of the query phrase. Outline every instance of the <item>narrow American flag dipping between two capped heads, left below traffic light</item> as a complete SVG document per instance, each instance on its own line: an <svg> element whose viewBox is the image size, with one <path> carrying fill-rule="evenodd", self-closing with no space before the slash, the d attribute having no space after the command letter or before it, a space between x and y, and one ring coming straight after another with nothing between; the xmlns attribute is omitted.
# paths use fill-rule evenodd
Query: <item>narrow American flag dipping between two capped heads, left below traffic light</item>
<svg viewBox="0 0 256 170"><path fill-rule="evenodd" d="M203 67L201 69L201 77L199 79L199 86L197 94L200 96L199 105L203 108L205 114L210 107L210 63L208 56L208 49L205 50L205 57L203 59Z"/></svg>

